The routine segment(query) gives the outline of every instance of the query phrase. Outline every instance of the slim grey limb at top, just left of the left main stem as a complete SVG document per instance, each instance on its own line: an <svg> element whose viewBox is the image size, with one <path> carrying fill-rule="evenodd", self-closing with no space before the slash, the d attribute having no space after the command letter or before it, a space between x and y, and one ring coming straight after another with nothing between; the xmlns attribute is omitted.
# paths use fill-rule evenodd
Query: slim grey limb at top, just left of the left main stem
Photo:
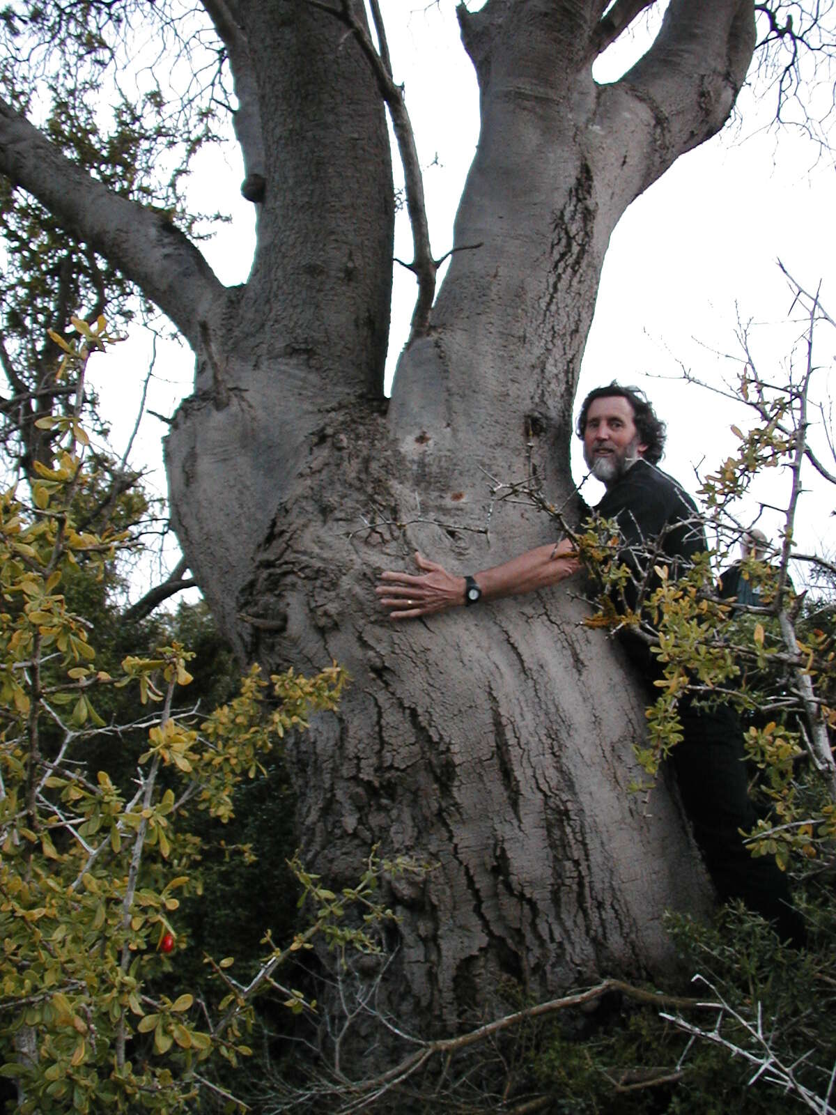
<svg viewBox="0 0 836 1115"><path fill-rule="evenodd" d="M233 125L244 158L241 193L247 201L261 202L264 198L264 137L250 45L241 27L237 4L231 0L202 0L202 3L226 47L239 101Z"/></svg>

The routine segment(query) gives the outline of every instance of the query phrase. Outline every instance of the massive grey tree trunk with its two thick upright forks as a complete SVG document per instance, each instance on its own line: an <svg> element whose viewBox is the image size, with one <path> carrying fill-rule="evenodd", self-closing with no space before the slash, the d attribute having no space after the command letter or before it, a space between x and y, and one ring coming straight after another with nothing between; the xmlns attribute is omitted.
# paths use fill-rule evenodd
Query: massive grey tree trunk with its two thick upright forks
<svg viewBox="0 0 836 1115"><path fill-rule="evenodd" d="M615 33L600 0L461 12L482 133L455 236L482 246L454 255L388 413L392 188L370 68L321 6L206 7L260 125L250 149L263 149L266 187L245 287L223 291L184 251L179 274L195 274L177 302L155 256L149 293L197 355L166 446L172 513L242 657L305 670L337 659L353 676L340 716L294 754L304 855L337 883L376 842L437 864L421 886L393 884L391 970L414 1025L484 1007L503 973L546 993L659 970L672 960L663 910L703 908L709 892L668 788L649 807L628 793L642 695L618 649L580 626L566 591L393 628L372 586L418 547L465 572L553 536L531 510L493 506L485 474L531 469L550 498L570 497L574 390L610 234L727 118L752 3L673 0L657 42L609 87L590 69ZM21 165L0 155L38 193ZM145 278L124 237L97 249Z"/></svg>

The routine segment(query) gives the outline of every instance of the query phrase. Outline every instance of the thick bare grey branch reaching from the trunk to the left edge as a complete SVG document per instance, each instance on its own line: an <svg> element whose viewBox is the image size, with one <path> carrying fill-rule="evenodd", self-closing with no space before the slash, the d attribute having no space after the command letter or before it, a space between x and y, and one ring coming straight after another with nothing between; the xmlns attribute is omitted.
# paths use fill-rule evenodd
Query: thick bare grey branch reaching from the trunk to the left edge
<svg viewBox="0 0 836 1115"><path fill-rule="evenodd" d="M0 100L0 173L142 287L197 346L198 321L207 317L224 288L166 214L111 193L4 100Z"/></svg>

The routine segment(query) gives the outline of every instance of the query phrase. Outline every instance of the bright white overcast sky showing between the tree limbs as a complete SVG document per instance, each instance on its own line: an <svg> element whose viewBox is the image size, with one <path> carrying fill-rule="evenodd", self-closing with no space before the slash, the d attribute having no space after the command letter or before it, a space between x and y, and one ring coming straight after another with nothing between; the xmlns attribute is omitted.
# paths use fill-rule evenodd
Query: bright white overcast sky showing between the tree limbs
<svg viewBox="0 0 836 1115"><path fill-rule="evenodd" d="M478 7L472 3L472 8ZM382 0L395 77L406 88L407 104L425 166L425 190L434 252L451 245L453 220L478 135L476 80L461 48L453 0L425 6L424 0ZM647 35L647 32L645 32ZM642 49L641 36L624 39L607 52L616 77ZM651 396L668 423L663 467L694 491L694 468L708 471L733 452L729 426L745 427L747 414L717 396L677 381L680 365L699 379L733 379L738 355L738 317L752 321L752 338L762 374L788 356L801 326L785 323L791 304L780 259L808 289L822 282L825 307L836 317L836 221L833 219L836 172L832 155L818 157L813 143L797 133L768 132L774 103L745 89L738 106L742 124L727 129L674 166L628 210L606 256L595 319L582 366L579 399L590 388L618 378ZM397 164L397 155L393 156ZM210 161L211 159L211 161ZM399 171L396 165L396 174ZM221 226L202 250L223 282L242 282L252 258L253 211L240 198L242 171L234 146L215 153L195 176L196 203L226 209L233 223ZM211 183L211 196L203 183ZM396 233L396 255L411 259L406 214ZM412 275L395 268L395 299L389 368L406 339L415 292ZM818 361L833 367L836 332L820 327ZM152 409L172 414L191 389L193 361L187 348L159 346L149 396ZM113 421L119 449L127 442L142 389L147 349L142 339L125 346L101 367L98 388ZM118 370L117 370L118 369ZM817 397L826 396L828 371L819 372ZM663 377L660 379L659 377ZM146 462L161 491L162 424L146 418L133 463ZM814 430L815 436L815 430ZM584 473L580 455L576 478ZM787 488L780 475L767 478L769 502L780 504ZM594 482L584 494L596 498ZM818 486L803 498L797 537L803 549L834 550L834 496ZM777 516L761 526L777 531ZM156 576L148 572L148 581ZM142 586L139 589L142 590Z"/></svg>

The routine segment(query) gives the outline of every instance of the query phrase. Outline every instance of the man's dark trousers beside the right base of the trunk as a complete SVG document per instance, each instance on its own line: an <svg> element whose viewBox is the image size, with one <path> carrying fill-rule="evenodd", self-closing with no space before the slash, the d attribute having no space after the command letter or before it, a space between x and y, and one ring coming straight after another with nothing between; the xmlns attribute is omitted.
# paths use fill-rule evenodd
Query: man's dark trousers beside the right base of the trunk
<svg viewBox="0 0 836 1115"><path fill-rule="evenodd" d="M790 908L787 878L774 856L752 857L745 833L757 822L747 789L743 733L728 706L680 710L683 739L671 753L694 838L715 886L725 901L742 899L775 924L781 940L805 941L801 918Z"/></svg>

